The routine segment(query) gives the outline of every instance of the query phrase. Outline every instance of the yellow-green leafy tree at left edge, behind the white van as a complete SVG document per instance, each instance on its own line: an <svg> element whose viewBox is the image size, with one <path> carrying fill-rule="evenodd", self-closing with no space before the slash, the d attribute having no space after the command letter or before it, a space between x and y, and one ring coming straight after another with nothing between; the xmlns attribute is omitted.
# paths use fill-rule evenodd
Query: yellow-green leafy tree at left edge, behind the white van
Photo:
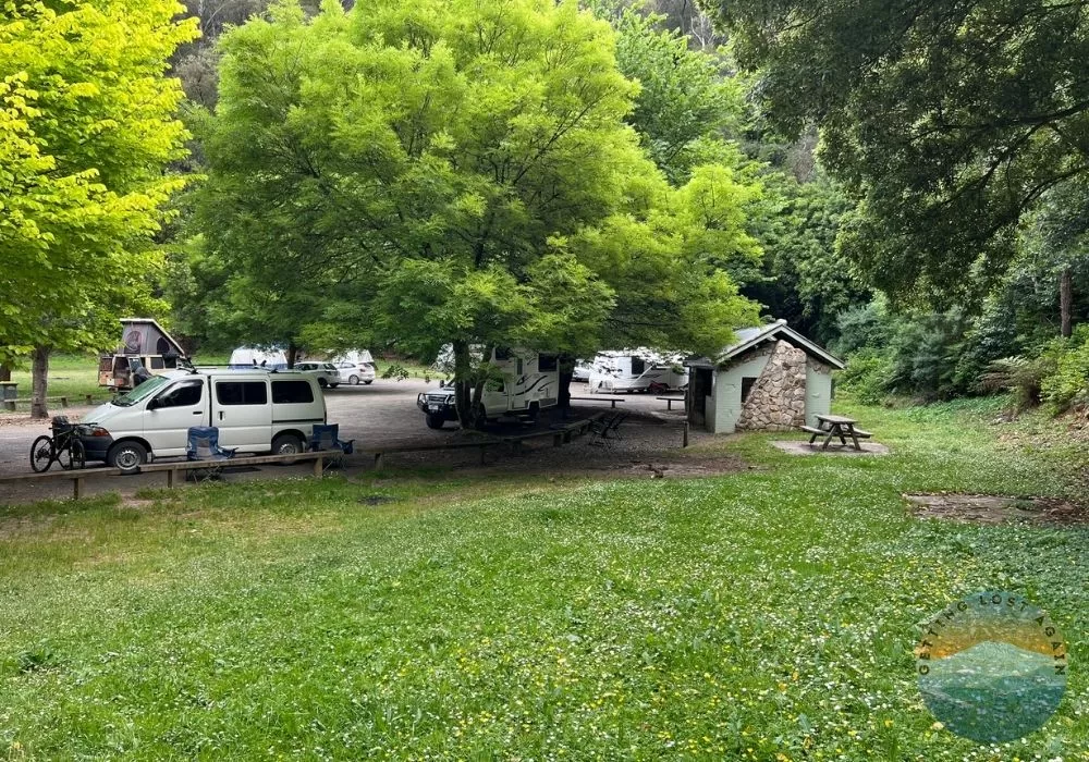
<svg viewBox="0 0 1089 762"><path fill-rule="evenodd" d="M12 0L0 16L0 362L98 347L148 300L152 236L180 181L178 83L196 34L173 0Z"/></svg>

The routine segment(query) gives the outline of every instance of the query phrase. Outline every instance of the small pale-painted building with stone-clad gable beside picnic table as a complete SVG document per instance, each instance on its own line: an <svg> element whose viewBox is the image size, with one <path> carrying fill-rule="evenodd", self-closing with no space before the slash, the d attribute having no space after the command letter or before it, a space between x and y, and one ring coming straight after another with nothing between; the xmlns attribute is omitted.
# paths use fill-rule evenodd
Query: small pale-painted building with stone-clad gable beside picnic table
<svg viewBox="0 0 1089 762"><path fill-rule="evenodd" d="M832 371L843 361L778 320L737 332L713 360L693 357L687 409L693 426L712 433L787 431L816 426L832 402Z"/></svg>

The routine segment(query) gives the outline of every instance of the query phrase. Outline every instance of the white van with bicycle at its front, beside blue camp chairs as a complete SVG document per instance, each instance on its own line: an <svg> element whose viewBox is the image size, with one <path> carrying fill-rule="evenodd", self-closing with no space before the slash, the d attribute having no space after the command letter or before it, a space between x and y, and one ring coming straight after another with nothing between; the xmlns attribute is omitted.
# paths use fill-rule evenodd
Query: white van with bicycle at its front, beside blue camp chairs
<svg viewBox="0 0 1089 762"><path fill-rule="evenodd" d="M175 370L148 379L83 417L88 460L136 471L149 459L185 455L188 429L215 426L219 444L243 453L306 450L326 401L310 373Z"/></svg>

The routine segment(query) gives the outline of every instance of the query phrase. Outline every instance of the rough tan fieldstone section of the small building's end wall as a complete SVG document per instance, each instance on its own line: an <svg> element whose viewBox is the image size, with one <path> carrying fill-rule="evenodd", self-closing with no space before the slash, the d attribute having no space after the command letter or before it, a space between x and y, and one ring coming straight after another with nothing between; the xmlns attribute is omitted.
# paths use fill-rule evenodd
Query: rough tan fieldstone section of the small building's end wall
<svg viewBox="0 0 1089 762"><path fill-rule="evenodd" d="M805 426L806 359L803 349L775 342L768 365L742 405L739 431L786 431Z"/></svg>

